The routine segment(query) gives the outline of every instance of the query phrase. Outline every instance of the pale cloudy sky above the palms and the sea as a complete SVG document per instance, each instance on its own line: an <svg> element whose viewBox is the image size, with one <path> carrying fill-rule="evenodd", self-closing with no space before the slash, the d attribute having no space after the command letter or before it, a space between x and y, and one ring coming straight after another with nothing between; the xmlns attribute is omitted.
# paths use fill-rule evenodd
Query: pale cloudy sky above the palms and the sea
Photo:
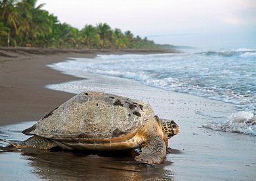
<svg viewBox="0 0 256 181"><path fill-rule="evenodd" d="M255 0L38 0L76 28L108 23L159 44L256 48Z"/></svg>

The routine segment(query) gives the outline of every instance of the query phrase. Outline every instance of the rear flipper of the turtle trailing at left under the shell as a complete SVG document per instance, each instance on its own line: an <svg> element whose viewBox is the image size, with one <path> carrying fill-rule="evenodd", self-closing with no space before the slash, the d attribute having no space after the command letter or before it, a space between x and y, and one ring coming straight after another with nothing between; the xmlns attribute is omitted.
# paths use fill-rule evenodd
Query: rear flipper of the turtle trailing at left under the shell
<svg viewBox="0 0 256 181"><path fill-rule="evenodd" d="M3 140L3 139L1 139ZM37 135L34 135L33 137L30 137L27 140L24 140L22 142L11 142L9 140L3 140L4 142L7 142L13 147L16 148L35 148L35 149L51 149L53 147L58 146L56 142L53 142L50 139L45 139L43 137L39 137Z"/></svg>

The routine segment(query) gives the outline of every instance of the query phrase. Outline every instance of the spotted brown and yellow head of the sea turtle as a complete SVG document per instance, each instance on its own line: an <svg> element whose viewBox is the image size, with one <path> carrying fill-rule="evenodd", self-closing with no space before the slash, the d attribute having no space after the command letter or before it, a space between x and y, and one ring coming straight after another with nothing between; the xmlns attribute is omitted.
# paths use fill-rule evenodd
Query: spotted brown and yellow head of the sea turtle
<svg viewBox="0 0 256 181"><path fill-rule="evenodd" d="M160 119L162 124L163 137L170 139L179 133L179 126L173 120Z"/></svg>

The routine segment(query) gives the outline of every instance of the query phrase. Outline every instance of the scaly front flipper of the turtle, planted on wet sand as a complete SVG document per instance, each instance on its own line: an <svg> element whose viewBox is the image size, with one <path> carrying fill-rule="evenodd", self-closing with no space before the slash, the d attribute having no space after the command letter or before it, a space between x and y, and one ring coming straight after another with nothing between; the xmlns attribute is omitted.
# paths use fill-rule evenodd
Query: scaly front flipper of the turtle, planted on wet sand
<svg viewBox="0 0 256 181"><path fill-rule="evenodd" d="M146 140L146 145L141 149L142 153L135 160L147 164L160 164L166 156L166 146L162 137L151 135Z"/></svg>

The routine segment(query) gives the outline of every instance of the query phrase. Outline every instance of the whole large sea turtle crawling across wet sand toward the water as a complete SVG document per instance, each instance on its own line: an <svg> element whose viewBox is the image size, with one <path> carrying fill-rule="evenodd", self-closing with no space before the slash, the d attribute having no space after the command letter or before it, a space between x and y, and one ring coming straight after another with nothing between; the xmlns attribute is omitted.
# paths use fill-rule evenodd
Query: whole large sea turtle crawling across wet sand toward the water
<svg viewBox="0 0 256 181"><path fill-rule="evenodd" d="M168 139L179 132L172 120L159 119L150 104L103 92L82 92L23 130L34 135L16 148L125 150L142 147L136 161L160 164Z"/></svg>

